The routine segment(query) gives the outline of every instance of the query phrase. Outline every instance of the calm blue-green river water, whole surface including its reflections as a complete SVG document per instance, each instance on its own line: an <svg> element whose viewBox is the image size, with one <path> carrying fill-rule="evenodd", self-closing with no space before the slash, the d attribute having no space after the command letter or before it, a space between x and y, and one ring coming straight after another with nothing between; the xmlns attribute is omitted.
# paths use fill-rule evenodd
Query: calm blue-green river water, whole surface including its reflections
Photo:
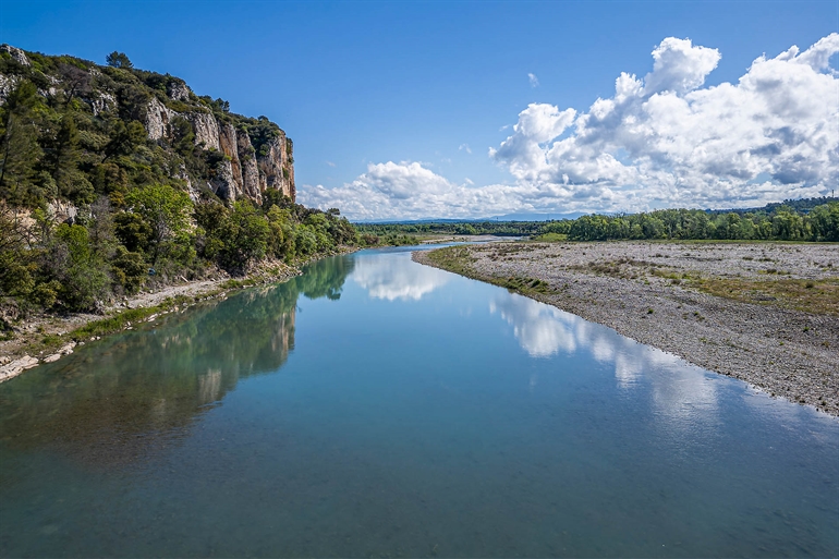
<svg viewBox="0 0 839 559"><path fill-rule="evenodd" d="M0 385L0 556L836 557L839 422L404 251Z"/></svg>

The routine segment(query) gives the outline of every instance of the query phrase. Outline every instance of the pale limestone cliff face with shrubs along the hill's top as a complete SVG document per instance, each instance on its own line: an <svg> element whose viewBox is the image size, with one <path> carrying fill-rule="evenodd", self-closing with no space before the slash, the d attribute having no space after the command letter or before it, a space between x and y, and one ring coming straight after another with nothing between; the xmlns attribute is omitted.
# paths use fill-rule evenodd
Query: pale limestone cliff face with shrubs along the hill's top
<svg viewBox="0 0 839 559"><path fill-rule="evenodd" d="M38 95L53 106L83 104L76 110L89 118L77 120L95 150L102 149L100 138L113 135L117 121L142 123L148 147L162 149L162 167L194 199L209 191L224 200L262 203L268 190L295 199L292 142L285 132L265 117L235 114L221 99L195 95L181 78L0 45L0 105L21 80L35 83ZM135 157L149 168L160 165L139 153Z"/></svg>

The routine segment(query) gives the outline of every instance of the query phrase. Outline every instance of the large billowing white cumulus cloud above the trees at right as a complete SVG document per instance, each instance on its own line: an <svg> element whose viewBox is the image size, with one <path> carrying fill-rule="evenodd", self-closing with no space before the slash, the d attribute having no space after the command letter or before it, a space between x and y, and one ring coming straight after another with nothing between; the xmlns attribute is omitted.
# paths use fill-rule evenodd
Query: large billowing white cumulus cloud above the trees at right
<svg viewBox="0 0 839 559"><path fill-rule="evenodd" d="M822 195L839 179L839 34L756 59L703 87L716 49L669 37L653 71L622 73L587 112L533 104L490 157L568 208L761 204Z"/></svg>

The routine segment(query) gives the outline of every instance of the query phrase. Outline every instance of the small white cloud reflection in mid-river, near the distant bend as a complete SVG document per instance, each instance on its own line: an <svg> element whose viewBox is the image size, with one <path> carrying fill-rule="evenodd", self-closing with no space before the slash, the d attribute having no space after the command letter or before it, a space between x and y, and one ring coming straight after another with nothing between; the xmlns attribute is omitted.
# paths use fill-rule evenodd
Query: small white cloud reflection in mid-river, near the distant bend
<svg viewBox="0 0 839 559"><path fill-rule="evenodd" d="M418 266L405 255L370 254L356 258L355 281L373 299L418 301L445 285L451 275L429 266Z"/></svg>

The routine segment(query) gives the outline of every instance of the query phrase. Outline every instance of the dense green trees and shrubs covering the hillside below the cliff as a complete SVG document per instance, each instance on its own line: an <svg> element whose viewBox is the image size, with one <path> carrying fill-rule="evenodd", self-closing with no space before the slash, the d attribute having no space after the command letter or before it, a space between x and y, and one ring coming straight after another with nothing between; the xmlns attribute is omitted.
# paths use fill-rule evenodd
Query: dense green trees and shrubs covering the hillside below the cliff
<svg viewBox="0 0 839 559"><path fill-rule="evenodd" d="M26 57L28 65L0 52L0 327L31 309L96 311L149 283L240 275L266 257L295 262L355 243L337 209L273 190L260 205L220 199L206 184L223 154L196 145L185 119L159 141L143 124L156 97L233 124L258 153L281 133L265 117L233 114L123 53L106 66ZM187 100L172 100L172 87Z"/></svg>

